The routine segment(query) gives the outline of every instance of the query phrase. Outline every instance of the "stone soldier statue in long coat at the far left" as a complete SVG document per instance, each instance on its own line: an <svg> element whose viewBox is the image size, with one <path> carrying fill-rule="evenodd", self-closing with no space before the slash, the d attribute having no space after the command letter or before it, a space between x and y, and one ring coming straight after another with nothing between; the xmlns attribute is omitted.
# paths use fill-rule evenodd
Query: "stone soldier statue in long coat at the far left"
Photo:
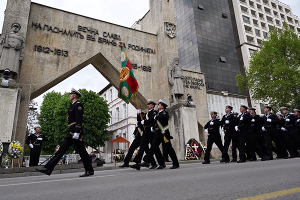
<svg viewBox="0 0 300 200"><path fill-rule="evenodd" d="M11 28L11 32L5 32L0 38L0 73L3 76L3 71L8 68L10 79L18 73L19 60L24 56L24 38L18 33L21 26L19 23L12 23Z"/></svg>

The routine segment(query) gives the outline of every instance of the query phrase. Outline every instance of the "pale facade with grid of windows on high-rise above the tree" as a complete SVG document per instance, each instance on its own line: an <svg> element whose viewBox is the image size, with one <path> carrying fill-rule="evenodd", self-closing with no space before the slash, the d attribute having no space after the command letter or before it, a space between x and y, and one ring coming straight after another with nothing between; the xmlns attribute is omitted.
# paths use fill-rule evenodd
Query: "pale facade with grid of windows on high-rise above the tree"
<svg viewBox="0 0 300 200"><path fill-rule="evenodd" d="M300 37L298 16L292 13L289 5L278 0L232 0L242 63L249 67L253 52L268 39L269 30L275 27L280 32L285 21L289 28ZM263 103L251 100L252 106L263 109Z"/></svg>

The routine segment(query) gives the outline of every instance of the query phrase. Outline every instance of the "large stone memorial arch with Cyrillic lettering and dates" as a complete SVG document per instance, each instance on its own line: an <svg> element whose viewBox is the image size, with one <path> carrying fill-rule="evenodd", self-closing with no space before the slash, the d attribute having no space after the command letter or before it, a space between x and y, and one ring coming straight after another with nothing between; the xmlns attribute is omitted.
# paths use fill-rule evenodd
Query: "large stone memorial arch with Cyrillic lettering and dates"
<svg viewBox="0 0 300 200"><path fill-rule="evenodd" d="M1 87L15 93L11 125L1 121L10 139L24 143L28 103L47 89L92 64L113 86L118 87L120 71L120 41L134 68L139 83L137 99L142 109L146 99L163 99L171 106L170 131L175 150L184 157L185 142L195 137L203 140L202 126L208 120L204 74L183 70L186 80L184 97L190 93L195 107L174 103L167 70L178 57L177 41L165 33L165 22L174 22L173 2L149 0L150 10L141 19L142 30L70 13L33 3L30 0L7 0L2 35L17 22L24 38L24 57L15 77L15 88ZM17 13L17 14L16 14ZM189 87L188 81L198 82ZM66 88L68 89L68 88ZM2 95L1 94L1 95ZM2 99L2 98L1 98ZM2 99L7 101L7 99ZM135 103L132 101L135 106ZM190 109L190 111L186 111ZM185 111L184 111L185 110ZM191 114L188 114L191 113ZM188 122L183 119L189 118ZM9 132L10 131L10 132ZM6 134L6 135L7 135ZM8 141L2 142L8 142Z"/></svg>

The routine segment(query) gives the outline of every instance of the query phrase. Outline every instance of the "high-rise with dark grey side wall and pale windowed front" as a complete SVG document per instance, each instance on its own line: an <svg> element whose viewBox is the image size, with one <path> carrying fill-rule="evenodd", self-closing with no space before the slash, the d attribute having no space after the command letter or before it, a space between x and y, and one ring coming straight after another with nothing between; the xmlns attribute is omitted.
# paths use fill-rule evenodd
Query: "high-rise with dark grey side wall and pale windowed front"
<svg viewBox="0 0 300 200"><path fill-rule="evenodd" d="M235 75L245 72L270 29L280 31L286 21L300 35L298 17L277 0L174 0L174 14L180 64L205 73L207 95L239 94ZM249 105L259 107L249 94L243 95Z"/></svg>

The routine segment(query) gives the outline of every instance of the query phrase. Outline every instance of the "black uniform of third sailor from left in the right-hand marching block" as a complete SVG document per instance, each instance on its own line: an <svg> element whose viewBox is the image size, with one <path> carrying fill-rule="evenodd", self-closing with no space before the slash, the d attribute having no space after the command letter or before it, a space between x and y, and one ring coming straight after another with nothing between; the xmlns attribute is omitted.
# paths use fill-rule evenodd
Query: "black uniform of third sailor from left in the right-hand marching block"
<svg viewBox="0 0 300 200"><path fill-rule="evenodd" d="M265 155L262 152L261 148L255 142L254 135L251 129L251 120L252 115L249 112L241 113L238 116L238 138L239 138L239 162L246 161L246 145L249 148L250 155L252 158L256 158L255 151L258 156L261 157L261 160L265 160Z"/></svg>

